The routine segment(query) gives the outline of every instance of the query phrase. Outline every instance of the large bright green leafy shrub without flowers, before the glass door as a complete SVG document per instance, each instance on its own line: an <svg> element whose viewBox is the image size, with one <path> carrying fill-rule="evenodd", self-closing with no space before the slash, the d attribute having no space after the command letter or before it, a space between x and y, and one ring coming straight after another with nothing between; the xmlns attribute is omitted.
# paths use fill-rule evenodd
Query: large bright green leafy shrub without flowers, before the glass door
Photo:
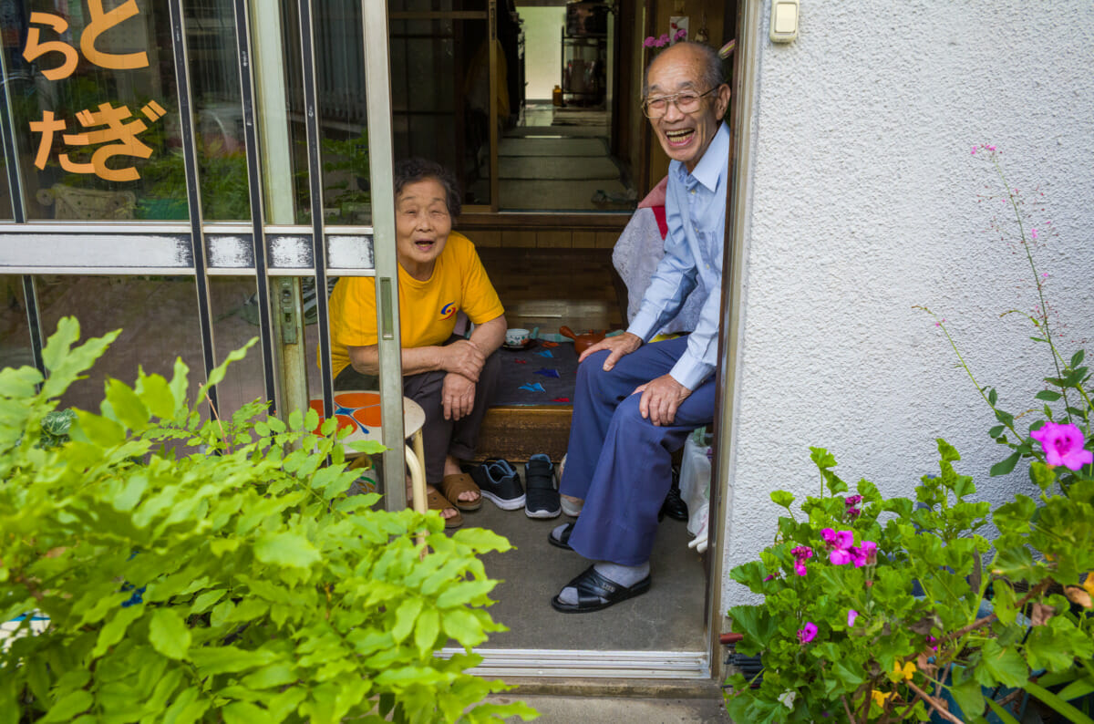
<svg viewBox="0 0 1094 724"><path fill-rule="evenodd" d="M505 687L466 673L502 629L477 556L509 544L347 495L334 421L321 436L314 412L282 421L258 404L202 419L179 361L170 381L108 381L68 441L43 425L116 336L77 345L65 318L47 378L0 372L0 621L48 617L0 646L0 722L534 715L480 703ZM435 656L449 641L464 652Z"/></svg>

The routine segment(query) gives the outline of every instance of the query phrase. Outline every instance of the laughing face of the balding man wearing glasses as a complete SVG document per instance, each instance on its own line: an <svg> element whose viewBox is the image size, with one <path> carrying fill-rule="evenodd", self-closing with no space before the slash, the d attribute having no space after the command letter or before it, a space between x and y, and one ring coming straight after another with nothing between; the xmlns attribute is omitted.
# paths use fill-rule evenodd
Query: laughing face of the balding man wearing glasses
<svg viewBox="0 0 1094 724"><path fill-rule="evenodd" d="M670 47L650 66L647 98L684 92L697 95L707 93L711 89L705 86L702 62L702 56L694 48L685 45ZM651 118L650 125L668 157L682 162L689 172L695 171L696 164L718 132L729 104L730 87L723 84L705 95L697 110L685 114L675 103L668 103L665 115Z"/></svg>

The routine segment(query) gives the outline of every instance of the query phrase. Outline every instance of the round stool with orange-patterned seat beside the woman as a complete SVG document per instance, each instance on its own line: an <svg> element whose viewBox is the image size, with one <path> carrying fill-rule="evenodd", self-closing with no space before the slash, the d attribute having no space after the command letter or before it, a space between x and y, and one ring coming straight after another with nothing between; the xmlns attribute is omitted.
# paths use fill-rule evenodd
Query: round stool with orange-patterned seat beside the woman
<svg viewBox="0 0 1094 724"><path fill-rule="evenodd" d="M380 393L371 389L345 389L335 393L335 419L338 429L350 428L351 432L341 439L341 443L359 440L381 442L382 421L380 419ZM319 413L319 424L323 424L323 398L313 397L309 407ZM426 424L426 411L409 397L403 398L403 437L409 439L411 445L406 446L407 468L410 470L411 500L414 510L426 512L426 452L421 439L421 428ZM347 451L352 452L352 451Z"/></svg>

